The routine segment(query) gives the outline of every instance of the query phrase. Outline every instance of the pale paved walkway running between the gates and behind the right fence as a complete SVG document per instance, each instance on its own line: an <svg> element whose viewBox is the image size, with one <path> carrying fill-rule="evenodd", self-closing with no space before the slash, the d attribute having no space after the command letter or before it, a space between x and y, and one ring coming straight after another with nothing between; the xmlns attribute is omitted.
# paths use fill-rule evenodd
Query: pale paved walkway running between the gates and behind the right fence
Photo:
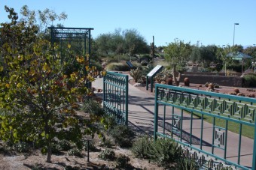
<svg viewBox="0 0 256 170"><path fill-rule="evenodd" d="M96 79L93 82L93 88L103 87L103 79ZM102 95L102 94L99 94ZM166 109L167 110L167 109ZM178 110L177 110L178 112ZM159 120L163 118L163 109L159 109ZM141 133L148 135L153 135L154 133L154 96L152 94L146 93L145 91L140 91L138 88L133 87L129 84L129 126L133 127L135 130L139 130ZM162 117L162 118L161 118ZM167 124L171 124L171 117L168 112L166 114ZM200 140L200 119L194 118L193 121L193 141L194 146L200 147L198 141ZM212 124L207 122L203 123L203 150L211 151L212 144ZM161 126L159 127L159 131ZM184 136L189 136L190 134L190 115L184 115L183 121ZM168 133L168 132L167 132ZM228 133L227 136L227 159L232 162L237 162L238 153L238 140L239 136L236 133ZM215 154L223 157L224 152L220 149L215 148ZM242 137L242 148L241 148L241 160L240 164L243 166L251 167L252 165L252 154L253 154L253 140L247 137Z"/></svg>

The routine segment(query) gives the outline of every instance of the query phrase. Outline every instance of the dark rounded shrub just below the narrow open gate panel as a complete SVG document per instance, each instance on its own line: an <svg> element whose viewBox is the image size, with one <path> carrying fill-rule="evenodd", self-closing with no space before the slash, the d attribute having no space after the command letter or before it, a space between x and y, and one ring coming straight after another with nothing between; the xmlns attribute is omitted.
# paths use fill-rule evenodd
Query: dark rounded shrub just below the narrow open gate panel
<svg viewBox="0 0 256 170"><path fill-rule="evenodd" d="M110 130L110 134L113 137L114 142L121 148L130 148L133 146L135 133L130 129L130 127L123 124L117 125Z"/></svg>

